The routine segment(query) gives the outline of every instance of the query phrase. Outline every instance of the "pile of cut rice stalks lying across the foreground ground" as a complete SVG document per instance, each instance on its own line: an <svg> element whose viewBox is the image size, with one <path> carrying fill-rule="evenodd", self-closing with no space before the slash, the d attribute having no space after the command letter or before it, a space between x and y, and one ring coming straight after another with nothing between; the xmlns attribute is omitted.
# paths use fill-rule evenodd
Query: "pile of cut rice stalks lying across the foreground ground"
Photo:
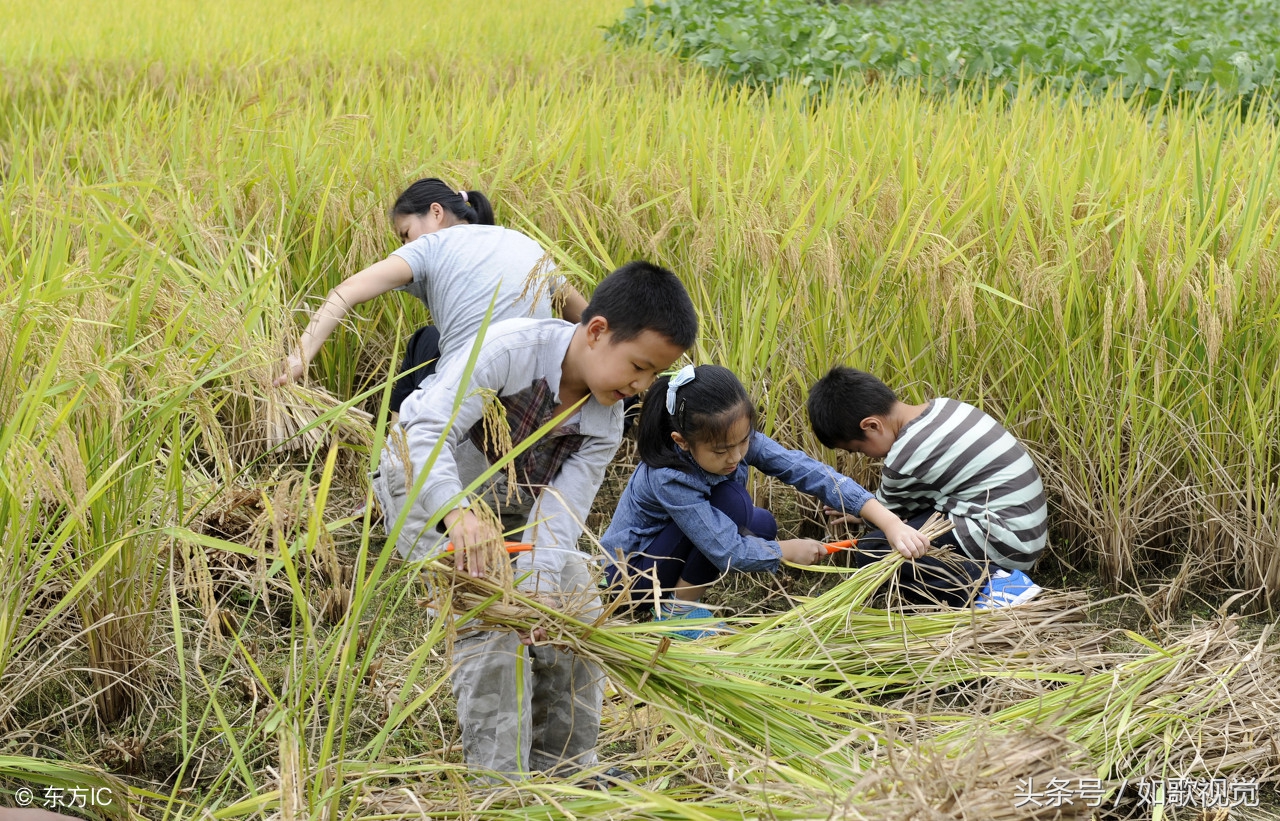
<svg viewBox="0 0 1280 821"><path fill-rule="evenodd" d="M809 817L1089 817L1084 797L1133 809L1139 783L1280 774L1271 630L1244 637L1226 619L1153 642L1092 624L1061 594L989 611L870 607L899 562L700 642L672 642L663 622L577 619L489 581L454 581L452 596L456 612L540 626L598 661L618 692L607 733L648 739L654 772L763 790ZM1019 802L1019 784L1078 792Z"/></svg>

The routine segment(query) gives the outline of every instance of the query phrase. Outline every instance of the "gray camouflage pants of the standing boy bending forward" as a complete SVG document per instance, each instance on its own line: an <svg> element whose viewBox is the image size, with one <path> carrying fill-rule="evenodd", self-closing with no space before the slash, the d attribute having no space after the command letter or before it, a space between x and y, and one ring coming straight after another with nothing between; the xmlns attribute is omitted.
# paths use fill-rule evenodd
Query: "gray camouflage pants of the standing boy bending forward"
<svg viewBox="0 0 1280 821"><path fill-rule="evenodd" d="M398 455L384 450L372 479L388 526L404 508L404 476ZM422 529L424 515L411 510L401 532L397 547L406 558L438 549L439 535L412 532ZM599 615L585 555L570 553L557 588L575 599L579 617ZM604 701L600 667L567 651L526 647L515 633L467 626L458 629L451 676L467 765L509 779L534 771L564 776L593 766Z"/></svg>

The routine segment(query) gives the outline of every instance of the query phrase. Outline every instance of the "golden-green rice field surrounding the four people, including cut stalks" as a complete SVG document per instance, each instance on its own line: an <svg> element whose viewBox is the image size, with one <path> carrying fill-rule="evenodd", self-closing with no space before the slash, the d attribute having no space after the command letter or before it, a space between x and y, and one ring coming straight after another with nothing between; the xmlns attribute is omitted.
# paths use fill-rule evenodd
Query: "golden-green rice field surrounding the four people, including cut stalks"
<svg viewBox="0 0 1280 821"><path fill-rule="evenodd" d="M1108 817L1198 817L1142 803L1156 779L1274 801L1275 113L764 93L611 47L625 8L0 9L0 806L26 786L166 821L1088 817L1018 804L1053 779ZM1107 626L1071 590L901 614L872 598L884 565L690 646L460 592L600 660L602 761L640 775L474 789L445 624L366 507L424 311L370 304L311 382L270 387L426 174L486 192L584 292L634 257L680 273L695 359L860 482L874 466L808 432L831 364L979 403L1044 474L1042 583L1080 569L1153 619ZM1161 621L1197 597L1216 612Z"/></svg>

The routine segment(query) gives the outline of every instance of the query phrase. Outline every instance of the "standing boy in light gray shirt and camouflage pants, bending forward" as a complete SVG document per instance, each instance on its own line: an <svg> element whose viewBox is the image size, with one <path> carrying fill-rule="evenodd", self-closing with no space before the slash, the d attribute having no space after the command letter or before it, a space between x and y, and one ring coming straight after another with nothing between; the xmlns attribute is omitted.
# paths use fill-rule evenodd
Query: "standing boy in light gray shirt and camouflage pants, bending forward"
<svg viewBox="0 0 1280 821"><path fill-rule="evenodd" d="M389 525L403 520L397 549L420 558L448 539L457 548L457 571L485 576L480 548L502 535L463 494L500 456L484 434L485 394L502 402L512 446L577 406L515 460L515 488L490 485L484 497L502 506L504 523L525 524L521 541L534 548L516 564L517 576L526 576L524 589L577 594L598 608L577 539L622 438L622 401L648 388L696 333L684 286L648 263L605 277L576 325L512 319L490 327L465 387L466 357L454 357L430 391L416 391L401 407L374 478ZM411 498L408 489L433 453L429 475ZM506 501L508 492L513 502ZM429 530L442 510L440 525ZM472 629L454 646L452 683L470 766L520 779L531 771L570 775L594 763L603 699L603 674L594 663L535 647L527 637Z"/></svg>

